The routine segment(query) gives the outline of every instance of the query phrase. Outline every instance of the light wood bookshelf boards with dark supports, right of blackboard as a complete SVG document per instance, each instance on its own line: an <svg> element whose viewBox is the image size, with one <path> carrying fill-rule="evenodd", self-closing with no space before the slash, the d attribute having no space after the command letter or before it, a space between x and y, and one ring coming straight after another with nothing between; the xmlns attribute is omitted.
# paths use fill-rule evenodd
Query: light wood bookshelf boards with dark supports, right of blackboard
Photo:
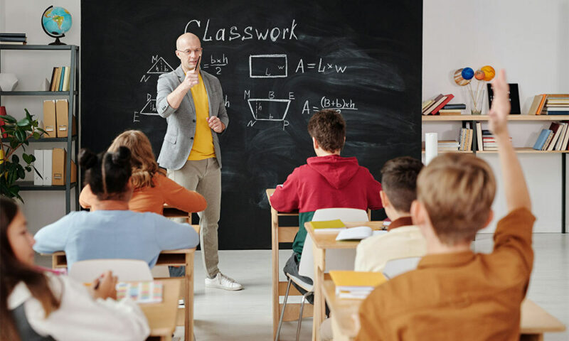
<svg viewBox="0 0 569 341"><path fill-rule="evenodd" d="M474 127L476 122L488 121L488 115L453 115L453 116L440 116L440 115L423 115L421 117L423 123L425 122L461 122L462 127L466 126L466 122L470 122ZM508 121L569 121L569 115L509 115ZM423 134L425 134L425 129ZM498 153L498 151L477 151L477 129L473 130L474 136L472 137L472 151L441 151L440 153L474 153L474 155ZM567 161L566 155L569 151L536 151L531 147L514 148L516 153L535 153L535 154L560 154L561 156L561 233L565 233L565 197L566 197L566 172ZM425 148L422 148L422 153L425 153Z"/></svg>

